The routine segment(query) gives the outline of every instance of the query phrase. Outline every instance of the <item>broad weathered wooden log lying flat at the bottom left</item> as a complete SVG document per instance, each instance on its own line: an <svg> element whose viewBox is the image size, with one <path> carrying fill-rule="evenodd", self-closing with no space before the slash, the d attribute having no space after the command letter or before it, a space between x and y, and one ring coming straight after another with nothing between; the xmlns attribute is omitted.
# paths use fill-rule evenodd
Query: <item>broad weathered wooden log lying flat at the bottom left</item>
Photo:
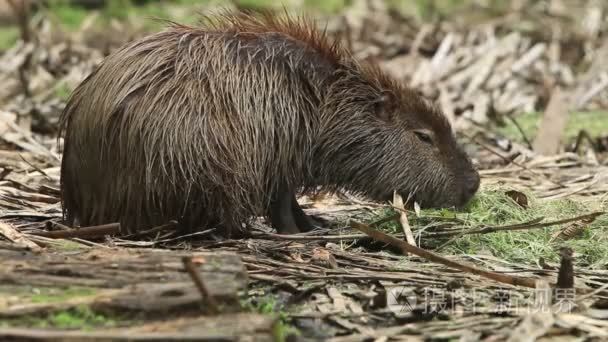
<svg viewBox="0 0 608 342"><path fill-rule="evenodd" d="M209 298L203 298L182 258L196 260L199 278ZM32 253L0 249L0 284L18 286L86 286L96 296L85 304L96 310L139 312L158 316L167 312L200 311L211 301L226 310L240 309L239 292L248 276L241 258L233 253L180 252L155 249L90 248L71 253ZM0 299L2 293L0 292ZM0 317L65 310L81 301L0 307ZM28 306L29 305L29 306Z"/></svg>

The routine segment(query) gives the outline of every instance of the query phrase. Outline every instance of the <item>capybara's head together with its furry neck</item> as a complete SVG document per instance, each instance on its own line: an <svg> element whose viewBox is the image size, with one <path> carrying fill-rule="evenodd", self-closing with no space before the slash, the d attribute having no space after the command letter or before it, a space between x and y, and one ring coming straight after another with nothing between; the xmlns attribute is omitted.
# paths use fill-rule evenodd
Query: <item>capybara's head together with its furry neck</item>
<svg viewBox="0 0 608 342"><path fill-rule="evenodd" d="M350 121L333 129L343 139L334 167L344 187L381 201L397 191L423 207L468 203L479 174L443 113L378 70L348 78L331 106Z"/></svg>

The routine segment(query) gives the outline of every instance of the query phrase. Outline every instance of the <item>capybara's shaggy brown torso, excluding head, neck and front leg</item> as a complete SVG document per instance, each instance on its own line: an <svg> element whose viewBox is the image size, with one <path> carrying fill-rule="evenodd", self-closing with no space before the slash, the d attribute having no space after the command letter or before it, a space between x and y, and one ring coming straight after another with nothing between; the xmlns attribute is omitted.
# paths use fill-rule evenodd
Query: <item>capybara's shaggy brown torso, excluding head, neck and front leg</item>
<svg viewBox="0 0 608 342"><path fill-rule="evenodd" d="M234 227L264 214L276 179L306 173L321 96L306 73L330 70L322 59L281 34L184 27L109 56L62 117L68 222Z"/></svg>

